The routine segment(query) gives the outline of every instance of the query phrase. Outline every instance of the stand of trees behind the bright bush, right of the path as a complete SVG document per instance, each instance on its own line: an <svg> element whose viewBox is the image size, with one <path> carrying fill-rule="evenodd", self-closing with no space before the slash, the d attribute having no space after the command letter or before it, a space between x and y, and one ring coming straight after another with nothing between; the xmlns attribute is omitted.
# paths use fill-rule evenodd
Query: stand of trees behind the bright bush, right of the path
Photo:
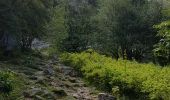
<svg viewBox="0 0 170 100"><path fill-rule="evenodd" d="M159 0L61 0L50 35L59 51L92 48L116 59L125 58L126 53L128 60L165 66L169 59L164 55L169 54L159 52L163 57L158 57L156 52L163 49L159 41L165 31L169 34L169 25L163 25L169 20L168 5Z"/></svg>

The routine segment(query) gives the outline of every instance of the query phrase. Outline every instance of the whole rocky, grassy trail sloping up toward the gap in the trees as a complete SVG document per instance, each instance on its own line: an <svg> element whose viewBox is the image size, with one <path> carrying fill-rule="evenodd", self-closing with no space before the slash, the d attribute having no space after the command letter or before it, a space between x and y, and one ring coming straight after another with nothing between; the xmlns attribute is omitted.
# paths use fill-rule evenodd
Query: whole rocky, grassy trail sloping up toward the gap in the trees
<svg viewBox="0 0 170 100"><path fill-rule="evenodd" d="M87 84L72 67L61 64L58 57L39 52L42 45L49 48L45 42L37 42L33 52L0 60L0 70L12 71L24 81L17 100L115 100Z"/></svg>

